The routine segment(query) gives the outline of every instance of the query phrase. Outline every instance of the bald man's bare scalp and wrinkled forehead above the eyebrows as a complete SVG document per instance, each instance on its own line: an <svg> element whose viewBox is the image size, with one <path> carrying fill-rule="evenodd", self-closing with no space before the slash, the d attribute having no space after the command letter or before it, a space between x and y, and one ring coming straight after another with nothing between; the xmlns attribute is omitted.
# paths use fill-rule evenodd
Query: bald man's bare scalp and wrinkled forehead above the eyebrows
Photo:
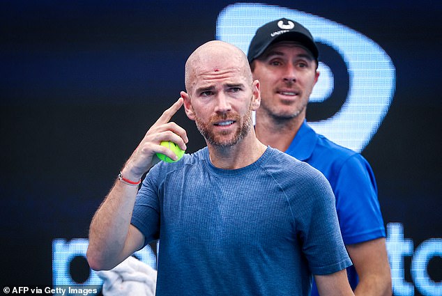
<svg viewBox="0 0 442 296"><path fill-rule="evenodd" d="M241 49L227 42L214 40L204 43L189 56L185 63L185 88L190 94L196 84L210 84L219 79L251 85L252 72Z"/></svg>

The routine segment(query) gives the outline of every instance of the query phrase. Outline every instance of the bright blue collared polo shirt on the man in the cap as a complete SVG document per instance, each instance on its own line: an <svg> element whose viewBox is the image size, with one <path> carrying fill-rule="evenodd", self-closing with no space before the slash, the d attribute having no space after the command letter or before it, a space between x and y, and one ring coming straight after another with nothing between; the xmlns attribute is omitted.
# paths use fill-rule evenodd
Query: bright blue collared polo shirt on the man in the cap
<svg viewBox="0 0 442 296"><path fill-rule="evenodd" d="M374 173L362 155L317 134L305 121L286 153L318 169L330 182L345 244L386 236ZM347 274L351 288L356 288L353 265ZM312 296L316 295L313 286Z"/></svg>

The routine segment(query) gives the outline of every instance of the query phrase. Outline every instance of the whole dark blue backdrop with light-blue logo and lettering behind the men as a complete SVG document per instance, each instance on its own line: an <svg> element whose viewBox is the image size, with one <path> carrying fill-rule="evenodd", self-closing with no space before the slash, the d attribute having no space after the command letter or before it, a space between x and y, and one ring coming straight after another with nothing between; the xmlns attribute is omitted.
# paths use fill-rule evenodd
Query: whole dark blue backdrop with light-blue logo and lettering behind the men
<svg viewBox="0 0 442 296"><path fill-rule="evenodd" d="M215 38L247 50L288 16L322 54L307 119L376 174L395 295L441 295L441 14L439 1L1 1L1 288L100 284L89 222L184 89L188 55ZM174 120L188 152L204 146Z"/></svg>

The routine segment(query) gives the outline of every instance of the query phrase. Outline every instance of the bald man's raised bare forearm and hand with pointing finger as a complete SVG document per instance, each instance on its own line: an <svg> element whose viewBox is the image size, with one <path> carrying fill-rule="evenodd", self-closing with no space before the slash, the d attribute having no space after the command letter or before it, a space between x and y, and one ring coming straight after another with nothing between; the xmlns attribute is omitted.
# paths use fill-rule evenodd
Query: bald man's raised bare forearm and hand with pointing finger
<svg viewBox="0 0 442 296"><path fill-rule="evenodd" d="M188 142L185 130L176 123L169 122L182 104L183 99L178 99L148 130L121 170L123 178L140 180L153 166L155 153L176 159L172 150L160 146L161 141L172 141L185 150L185 143ZM93 270L112 269L143 247L144 235L130 224L137 192L138 186L116 180L114 187L93 216L86 254Z"/></svg>

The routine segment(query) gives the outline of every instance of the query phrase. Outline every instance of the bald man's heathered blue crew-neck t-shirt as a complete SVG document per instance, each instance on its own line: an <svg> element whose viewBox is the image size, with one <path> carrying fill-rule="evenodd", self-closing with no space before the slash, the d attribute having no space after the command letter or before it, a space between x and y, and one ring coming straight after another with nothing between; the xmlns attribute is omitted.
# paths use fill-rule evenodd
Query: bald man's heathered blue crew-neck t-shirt
<svg viewBox="0 0 442 296"><path fill-rule="evenodd" d="M153 166L131 223L160 239L156 295L308 295L351 265L326 178L273 148L236 170L207 148Z"/></svg>

